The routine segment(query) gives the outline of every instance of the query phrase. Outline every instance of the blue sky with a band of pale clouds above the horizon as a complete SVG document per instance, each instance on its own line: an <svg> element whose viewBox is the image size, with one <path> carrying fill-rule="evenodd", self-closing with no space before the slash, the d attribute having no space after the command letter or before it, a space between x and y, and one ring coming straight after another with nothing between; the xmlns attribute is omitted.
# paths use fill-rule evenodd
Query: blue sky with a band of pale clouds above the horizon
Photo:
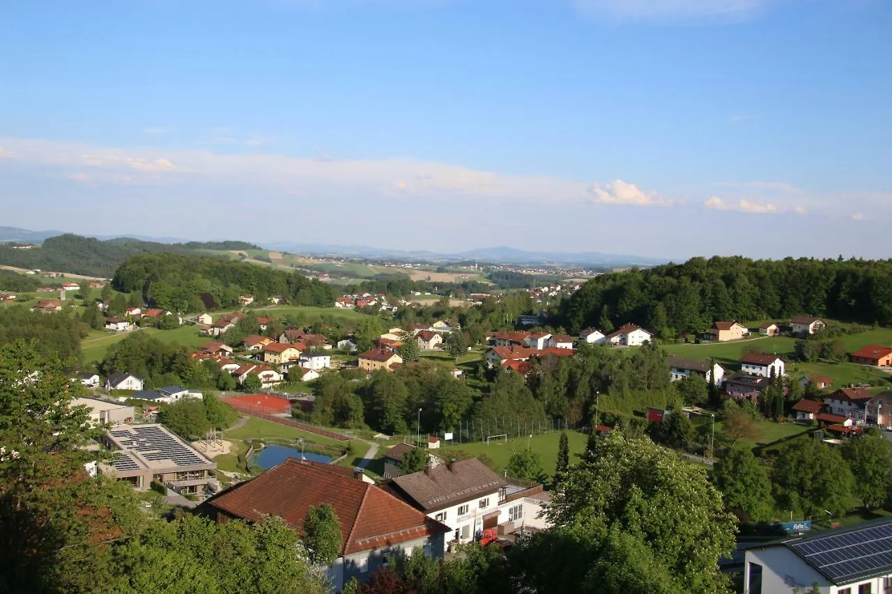
<svg viewBox="0 0 892 594"><path fill-rule="evenodd" d="M888 257L883 0L0 4L2 224Z"/></svg>

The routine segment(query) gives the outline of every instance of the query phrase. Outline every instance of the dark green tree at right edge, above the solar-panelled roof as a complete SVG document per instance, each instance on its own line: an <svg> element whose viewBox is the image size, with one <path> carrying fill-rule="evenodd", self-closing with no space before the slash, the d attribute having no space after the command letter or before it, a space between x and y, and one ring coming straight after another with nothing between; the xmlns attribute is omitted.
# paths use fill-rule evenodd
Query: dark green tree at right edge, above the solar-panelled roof
<svg viewBox="0 0 892 594"><path fill-rule="evenodd" d="M880 507L892 491L892 450L881 435L865 434L846 441L842 448L852 474L857 477L852 494L864 507Z"/></svg>

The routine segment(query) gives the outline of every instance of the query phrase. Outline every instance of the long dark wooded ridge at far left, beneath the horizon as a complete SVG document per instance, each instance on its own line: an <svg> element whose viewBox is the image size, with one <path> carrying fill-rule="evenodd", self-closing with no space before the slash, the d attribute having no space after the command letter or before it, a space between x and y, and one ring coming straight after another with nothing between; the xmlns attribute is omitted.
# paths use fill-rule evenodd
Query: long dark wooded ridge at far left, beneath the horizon
<svg viewBox="0 0 892 594"><path fill-rule="evenodd" d="M211 255L200 251L254 249L260 248L253 243L238 241L158 243L129 237L100 241L94 237L65 234L49 237L42 245L29 250L16 250L12 245L0 243L0 264L108 278L124 260L145 253Z"/></svg>

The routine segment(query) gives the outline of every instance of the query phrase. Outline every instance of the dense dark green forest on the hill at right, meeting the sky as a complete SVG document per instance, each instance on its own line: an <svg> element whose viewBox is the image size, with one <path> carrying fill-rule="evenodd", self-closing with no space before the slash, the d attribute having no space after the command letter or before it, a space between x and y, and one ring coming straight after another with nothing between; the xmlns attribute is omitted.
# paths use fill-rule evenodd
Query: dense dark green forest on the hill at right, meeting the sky
<svg viewBox="0 0 892 594"><path fill-rule="evenodd" d="M632 322L660 333L704 331L715 320L799 314L892 325L892 260L694 258L597 276L564 308L570 331Z"/></svg>

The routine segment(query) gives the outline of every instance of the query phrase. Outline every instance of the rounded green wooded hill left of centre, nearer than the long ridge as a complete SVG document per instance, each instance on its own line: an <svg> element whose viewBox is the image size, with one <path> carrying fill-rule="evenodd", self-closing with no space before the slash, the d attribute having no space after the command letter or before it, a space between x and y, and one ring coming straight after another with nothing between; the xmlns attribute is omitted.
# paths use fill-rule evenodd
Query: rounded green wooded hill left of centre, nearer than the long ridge
<svg viewBox="0 0 892 594"><path fill-rule="evenodd" d="M240 295L257 301L283 295L296 305L331 307L335 289L296 272L247 262L182 254L145 254L128 259L115 272L111 285L124 293L141 291L153 307L171 311L199 311L238 305ZM202 302L201 296L205 295Z"/></svg>

